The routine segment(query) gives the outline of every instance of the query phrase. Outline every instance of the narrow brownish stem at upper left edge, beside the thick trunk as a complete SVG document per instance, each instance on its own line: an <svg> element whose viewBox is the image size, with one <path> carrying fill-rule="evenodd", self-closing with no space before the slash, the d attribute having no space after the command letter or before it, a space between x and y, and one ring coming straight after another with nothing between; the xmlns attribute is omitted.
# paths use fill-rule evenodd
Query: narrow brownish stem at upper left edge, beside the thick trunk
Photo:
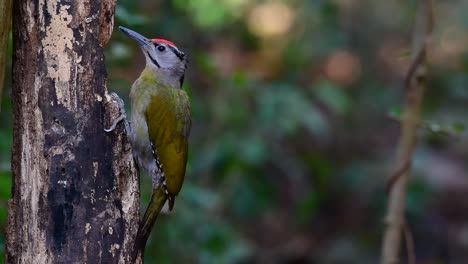
<svg viewBox="0 0 468 264"><path fill-rule="evenodd" d="M3 83L5 80L8 35L11 27L11 0L0 1L0 112L2 111Z"/></svg>

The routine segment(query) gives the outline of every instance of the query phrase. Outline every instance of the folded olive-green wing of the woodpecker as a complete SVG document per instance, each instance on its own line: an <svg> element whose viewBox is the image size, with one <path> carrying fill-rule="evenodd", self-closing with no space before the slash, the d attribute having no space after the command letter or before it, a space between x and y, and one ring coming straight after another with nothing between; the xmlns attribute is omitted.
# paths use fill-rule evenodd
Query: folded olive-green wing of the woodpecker
<svg viewBox="0 0 468 264"><path fill-rule="evenodd" d="M146 110L148 134L163 165L167 189L177 195L182 188L191 128L190 101L181 89L161 88Z"/></svg>

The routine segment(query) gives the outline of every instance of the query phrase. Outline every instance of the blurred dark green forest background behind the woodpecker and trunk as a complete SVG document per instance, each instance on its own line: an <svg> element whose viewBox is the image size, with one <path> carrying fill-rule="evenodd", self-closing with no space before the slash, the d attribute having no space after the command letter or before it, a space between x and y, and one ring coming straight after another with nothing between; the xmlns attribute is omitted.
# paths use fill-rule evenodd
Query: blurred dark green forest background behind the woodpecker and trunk
<svg viewBox="0 0 468 264"><path fill-rule="evenodd" d="M401 0L119 0L116 26L190 55L186 182L175 211L158 219L148 263L377 263L415 8ZM468 260L467 10L464 0L435 3L426 126L407 199L417 263ZM144 56L115 30L106 63L108 89L129 102ZM2 231L11 195L8 78ZM145 207L148 178L142 193Z"/></svg>

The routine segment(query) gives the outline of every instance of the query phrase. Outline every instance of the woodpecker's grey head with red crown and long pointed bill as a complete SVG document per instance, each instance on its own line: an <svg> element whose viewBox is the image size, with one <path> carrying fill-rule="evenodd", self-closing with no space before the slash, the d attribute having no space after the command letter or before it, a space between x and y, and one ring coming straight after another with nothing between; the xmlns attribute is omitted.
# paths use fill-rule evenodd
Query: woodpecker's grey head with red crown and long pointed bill
<svg viewBox="0 0 468 264"><path fill-rule="evenodd" d="M159 78L170 85L184 81L188 56L180 51L174 43L165 39L148 39L141 34L120 26L119 29L136 40L146 57L146 67L154 71Z"/></svg>

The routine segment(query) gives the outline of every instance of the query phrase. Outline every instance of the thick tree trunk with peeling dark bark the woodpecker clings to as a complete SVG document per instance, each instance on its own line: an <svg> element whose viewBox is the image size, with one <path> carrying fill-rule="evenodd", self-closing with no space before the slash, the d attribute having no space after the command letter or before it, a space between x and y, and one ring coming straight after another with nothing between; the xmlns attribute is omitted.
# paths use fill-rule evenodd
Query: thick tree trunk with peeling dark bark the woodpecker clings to
<svg viewBox="0 0 468 264"><path fill-rule="evenodd" d="M7 263L128 263L139 184L123 126L105 133L115 0L14 1Z"/></svg>

